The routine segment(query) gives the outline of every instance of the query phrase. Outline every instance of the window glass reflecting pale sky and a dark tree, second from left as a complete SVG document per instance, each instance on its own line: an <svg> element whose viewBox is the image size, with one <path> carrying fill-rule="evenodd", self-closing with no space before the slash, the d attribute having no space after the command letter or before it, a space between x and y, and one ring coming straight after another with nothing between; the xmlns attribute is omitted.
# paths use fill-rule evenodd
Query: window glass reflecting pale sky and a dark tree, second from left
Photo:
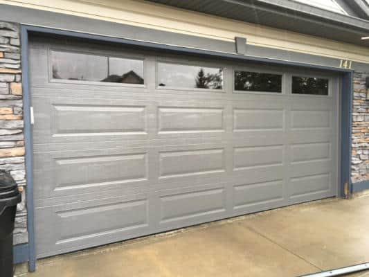
<svg viewBox="0 0 369 277"><path fill-rule="evenodd" d="M158 64L159 87L222 89L223 69L183 64Z"/></svg>

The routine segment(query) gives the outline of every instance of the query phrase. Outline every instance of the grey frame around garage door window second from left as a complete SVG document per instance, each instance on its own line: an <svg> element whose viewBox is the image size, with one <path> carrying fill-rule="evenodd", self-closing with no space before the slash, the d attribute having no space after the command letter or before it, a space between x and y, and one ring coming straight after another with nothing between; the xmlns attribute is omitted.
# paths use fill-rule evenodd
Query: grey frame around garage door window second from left
<svg viewBox="0 0 369 277"><path fill-rule="evenodd" d="M223 85L222 89L201 89L201 88L191 88L191 87L168 87L168 86L159 86L159 63L165 64L177 64L183 66L198 66L198 67L207 67L213 69L223 69ZM170 59L165 57L156 57L155 60L155 89L159 90L171 90L171 91L201 91L201 92L217 92L217 93L226 93L226 66L215 64L212 62L202 62L195 60L179 60L179 59Z"/></svg>

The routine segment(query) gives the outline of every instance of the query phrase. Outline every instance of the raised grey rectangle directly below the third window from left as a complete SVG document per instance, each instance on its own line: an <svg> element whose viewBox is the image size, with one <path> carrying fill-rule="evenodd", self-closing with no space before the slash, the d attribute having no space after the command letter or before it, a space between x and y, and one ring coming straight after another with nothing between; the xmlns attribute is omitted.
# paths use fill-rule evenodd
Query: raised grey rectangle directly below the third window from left
<svg viewBox="0 0 369 277"><path fill-rule="evenodd" d="M282 109L233 109L233 130L283 129Z"/></svg>

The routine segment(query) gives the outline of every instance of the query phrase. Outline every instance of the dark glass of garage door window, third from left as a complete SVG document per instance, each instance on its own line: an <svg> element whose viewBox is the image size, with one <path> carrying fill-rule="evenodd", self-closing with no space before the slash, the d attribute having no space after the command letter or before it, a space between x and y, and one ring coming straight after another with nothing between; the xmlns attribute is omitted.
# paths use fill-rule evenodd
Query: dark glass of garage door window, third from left
<svg viewBox="0 0 369 277"><path fill-rule="evenodd" d="M282 92L282 75L235 71L235 90Z"/></svg>

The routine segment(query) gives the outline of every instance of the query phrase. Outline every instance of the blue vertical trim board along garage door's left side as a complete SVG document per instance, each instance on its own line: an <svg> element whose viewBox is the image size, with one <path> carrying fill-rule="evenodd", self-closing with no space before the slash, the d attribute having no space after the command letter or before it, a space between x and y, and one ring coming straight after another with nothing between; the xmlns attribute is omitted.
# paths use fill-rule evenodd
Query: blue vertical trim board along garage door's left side
<svg viewBox="0 0 369 277"><path fill-rule="evenodd" d="M28 74L28 28L21 26L21 66L24 114L24 145L26 148L26 199L27 199L27 229L28 229L28 269L36 269L35 232L33 226L33 143L32 127L30 125L30 90Z"/></svg>

